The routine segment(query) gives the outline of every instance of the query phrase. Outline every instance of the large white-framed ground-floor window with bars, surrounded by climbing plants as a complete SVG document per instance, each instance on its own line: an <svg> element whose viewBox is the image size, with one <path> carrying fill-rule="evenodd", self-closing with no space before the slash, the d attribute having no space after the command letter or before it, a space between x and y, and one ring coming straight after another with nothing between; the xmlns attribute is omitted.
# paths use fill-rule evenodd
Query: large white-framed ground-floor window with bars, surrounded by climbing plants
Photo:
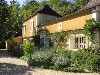
<svg viewBox="0 0 100 75"><path fill-rule="evenodd" d="M81 35L81 34L80 34ZM75 43L75 38L78 40L77 43ZM82 38L84 38L82 40ZM70 50L74 50L77 51L78 49L82 49L82 48L87 48L88 47L88 39L85 35L82 36L71 36L69 37L69 49Z"/></svg>

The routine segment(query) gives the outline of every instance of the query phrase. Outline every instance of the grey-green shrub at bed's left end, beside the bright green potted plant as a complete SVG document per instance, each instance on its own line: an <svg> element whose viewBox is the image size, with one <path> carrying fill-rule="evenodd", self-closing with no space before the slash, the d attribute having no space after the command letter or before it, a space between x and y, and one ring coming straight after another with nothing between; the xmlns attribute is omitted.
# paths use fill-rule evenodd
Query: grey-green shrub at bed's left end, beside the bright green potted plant
<svg viewBox="0 0 100 75"><path fill-rule="evenodd" d="M36 51L32 55L32 60L34 61L34 66L40 66L47 68L52 65L51 58L53 57L54 51L52 50L42 50Z"/></svg>

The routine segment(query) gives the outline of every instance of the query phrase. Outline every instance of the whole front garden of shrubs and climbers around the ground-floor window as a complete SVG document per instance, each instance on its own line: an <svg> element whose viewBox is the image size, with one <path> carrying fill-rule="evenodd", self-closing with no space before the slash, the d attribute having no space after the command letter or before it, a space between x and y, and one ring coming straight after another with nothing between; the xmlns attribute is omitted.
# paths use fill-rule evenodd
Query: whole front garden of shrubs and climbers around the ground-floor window
<svg viewBox="0 0 100 75"><path fill-rule="evenodd" d="M68 40L70 34L76 34L80 31L70 31L54 33L53 40L57 43L56 48L36 48L35 43L29 41L23 46L23 56L20 59L27 61L29 66L60 70L65 72L97 72L100 73L100 44L93 38L93 30L98 30L100 23L94 19L86 21L84 31L81 30L92 44L88 48L72 51L64 48L63 43ZM13 50L17 44L9 42L11 52L17 54ZM12 49L13 48L13 49ZM19 53L18 53L19 54Z"/></svg>

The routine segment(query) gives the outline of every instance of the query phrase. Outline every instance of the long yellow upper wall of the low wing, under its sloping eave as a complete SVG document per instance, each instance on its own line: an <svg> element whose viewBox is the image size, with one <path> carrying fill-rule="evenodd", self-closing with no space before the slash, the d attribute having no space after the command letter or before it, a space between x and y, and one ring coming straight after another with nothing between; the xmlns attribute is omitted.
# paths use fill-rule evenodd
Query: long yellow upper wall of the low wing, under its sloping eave
<svg viewBox="0 0 100 75"><path fill-rule="evenodd" d="M89 20L91 18L92 18L92 12L86 11L86 12L83 12L80 14L69 16L69 17L60 19L58 21L43 25L41 27L45 27L49 31L49 33L83 29L83 27L86 23L86 20ZM62 29L59 29L59 27L58 27L59 22L62 22Z"/></svg>

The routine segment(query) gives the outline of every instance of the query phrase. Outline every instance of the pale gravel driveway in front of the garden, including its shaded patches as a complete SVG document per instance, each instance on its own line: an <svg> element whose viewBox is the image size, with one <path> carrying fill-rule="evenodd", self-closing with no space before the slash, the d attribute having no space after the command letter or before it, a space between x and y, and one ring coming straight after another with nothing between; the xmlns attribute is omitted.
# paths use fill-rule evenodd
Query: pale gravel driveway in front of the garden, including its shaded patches
<svg viewBox="0 0 100 75"><path fill-rule="evenodd" d="M96 73L66 73L54 70L34 69L7 51L0 51L0 75L100 75Z"/></svg>

